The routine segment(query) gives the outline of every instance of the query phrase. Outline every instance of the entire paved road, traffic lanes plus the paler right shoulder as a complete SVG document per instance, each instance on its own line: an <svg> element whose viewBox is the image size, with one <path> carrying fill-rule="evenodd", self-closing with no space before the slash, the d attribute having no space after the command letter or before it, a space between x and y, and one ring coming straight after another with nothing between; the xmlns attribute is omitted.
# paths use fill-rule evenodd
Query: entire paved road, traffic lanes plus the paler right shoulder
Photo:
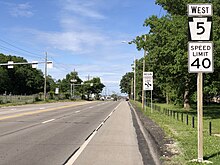
<svg viewBox="0 0 220 165"><path fill-rule="evenodd" d="M3 107L0 165L154 164L135 128L126 101Z"/></svg>

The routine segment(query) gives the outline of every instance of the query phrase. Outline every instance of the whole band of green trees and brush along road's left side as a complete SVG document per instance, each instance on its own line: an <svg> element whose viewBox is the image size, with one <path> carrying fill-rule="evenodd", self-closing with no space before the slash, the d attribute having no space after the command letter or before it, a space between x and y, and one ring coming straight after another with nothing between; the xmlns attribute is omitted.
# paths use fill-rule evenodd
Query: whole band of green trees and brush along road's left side
<svg viewBox="0 0 220 165"><path fill-rule="evenodd" d="M0 63L27 63L23 57L0 53ZM46 79L46 101L66 99L87 99L100 97L105 85L99 77L82 81L76 71L65 78L55 80L50 75ZM0 66L0 104L31 103L44 100L44 74L31 65L15 65L14 68Z"/></svg>

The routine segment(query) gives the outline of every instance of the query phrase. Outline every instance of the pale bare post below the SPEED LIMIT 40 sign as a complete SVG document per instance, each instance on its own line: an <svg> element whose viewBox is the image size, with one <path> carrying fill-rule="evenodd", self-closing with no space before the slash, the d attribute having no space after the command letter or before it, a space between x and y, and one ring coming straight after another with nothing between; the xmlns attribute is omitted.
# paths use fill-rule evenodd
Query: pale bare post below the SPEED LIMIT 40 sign
<svg viewBox="0 0 220 165"><path fill-rule="evenodd" d="M197 77L198 162L203 162L203 73Z"/></svg>

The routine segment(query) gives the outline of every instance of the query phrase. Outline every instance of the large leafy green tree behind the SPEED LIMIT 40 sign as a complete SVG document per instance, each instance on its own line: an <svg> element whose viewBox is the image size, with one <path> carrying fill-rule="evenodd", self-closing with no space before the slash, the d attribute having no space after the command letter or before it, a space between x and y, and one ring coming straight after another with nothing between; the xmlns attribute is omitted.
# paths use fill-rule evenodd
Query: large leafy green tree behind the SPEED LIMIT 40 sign
<svg viewBox="0 0 220 165"><path fill-rule="evenodd" d="M191 98L196 92L196 74L188 73L188 3L208 3L208 0L157 0L167 14L158 18L153 15L147 18L144 26L150 28L148 34L137 36L132 43L137 49L145 49L146 70L154 72L154 86L157 92L166 97L167 102L183 103L189 108ZM214 7L213 38L215 72L204 76L204 95L219 93L220 66L220 1L211 1ZM141 70L138 69L141 73ZM142 74L140 74L142 75ZM123 78L122 78L123 79ZM142 84L136 80L137 84ZM129 87L127 87L127 91ZM140 92L140 89L138 89Z"/></svg>

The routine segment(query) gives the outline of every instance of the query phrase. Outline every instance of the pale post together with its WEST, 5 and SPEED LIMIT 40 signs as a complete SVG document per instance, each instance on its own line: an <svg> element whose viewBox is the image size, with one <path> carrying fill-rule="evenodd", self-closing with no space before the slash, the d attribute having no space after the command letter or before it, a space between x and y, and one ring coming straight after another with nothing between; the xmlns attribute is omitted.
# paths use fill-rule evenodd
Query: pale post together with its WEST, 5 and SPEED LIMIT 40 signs
<svg viewBox="0 0 220 165"><path fill-rule="evenodd" d="M188 71L197 75L198 159L203 160L203 73L213 72L212 4L188 4Z"/></svg>

